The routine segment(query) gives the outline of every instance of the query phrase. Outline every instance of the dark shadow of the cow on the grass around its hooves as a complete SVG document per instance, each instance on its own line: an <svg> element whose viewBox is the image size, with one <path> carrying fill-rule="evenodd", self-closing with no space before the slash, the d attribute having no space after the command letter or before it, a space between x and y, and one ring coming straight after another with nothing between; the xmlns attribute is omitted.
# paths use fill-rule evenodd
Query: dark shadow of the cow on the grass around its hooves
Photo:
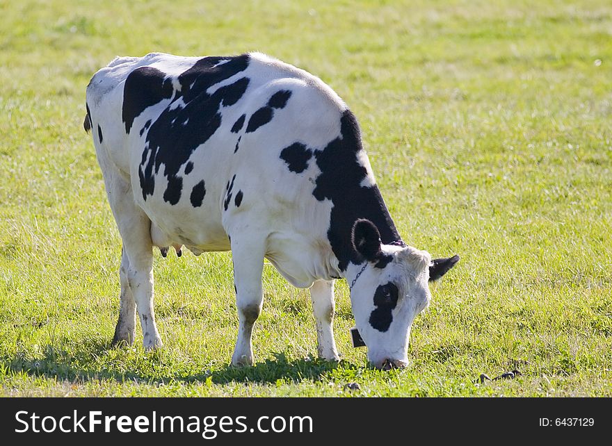
<svg viewBox="0 0 612 446"><path fill-rule="evenodd" d="M77 352L66 352L57 349L53 345L42 347L42 355L36 357L24 353L0 356L0 367L6 372L16 374L27 374L32 377L52 378L58 381L87 382L111 380L117 382L140 382L150 384L166 384L172 381L195 383L198 381L211 380L215 384L227 384L232 382L242 383L277 383L278 381L298 383L300 381L319 381L326 375L331 374L337 368L356 369L357 366L341 361L340 363L324 361L321 359L297 358L288 359L284 353L275 353L273 358L255 363L247 367L234 367L230 364L215 368L214 370L202 370L193 374L184 372L161 372L148 374L131 370L120 370L114 367L94 367L93 356L109 354L113 349L123 347L112 347L109 343L89 343ZM163 361L163 352L146 354L145 361L155 364ZM120 361L120 359L118 359ZM110 363L113 360L109 361Z"/></svg>

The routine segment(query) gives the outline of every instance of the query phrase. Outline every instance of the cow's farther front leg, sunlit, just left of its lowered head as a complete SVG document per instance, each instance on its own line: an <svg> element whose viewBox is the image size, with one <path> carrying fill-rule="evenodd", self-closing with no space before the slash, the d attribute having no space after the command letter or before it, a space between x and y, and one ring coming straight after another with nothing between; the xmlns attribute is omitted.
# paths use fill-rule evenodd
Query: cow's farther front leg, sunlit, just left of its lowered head
<svg viewBox="0 0 612 446"><path fill-rule="evenodd" d="M316 351L319 357L328 361L339 361L336 343L334 342L334 282L319 280L310 287L312 311L316 322Z"/></svg>

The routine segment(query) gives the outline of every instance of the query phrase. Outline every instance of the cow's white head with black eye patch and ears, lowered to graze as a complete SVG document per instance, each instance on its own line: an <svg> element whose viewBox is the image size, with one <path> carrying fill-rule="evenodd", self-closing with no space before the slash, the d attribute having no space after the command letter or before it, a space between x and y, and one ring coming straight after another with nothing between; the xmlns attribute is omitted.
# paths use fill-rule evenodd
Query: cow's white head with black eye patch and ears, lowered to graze
<svg viewBox="0 0 612 446"><path fill-rule="evenodd" d="M442 277L459 256L432 261L427 251L383 245L369 220L355 222L352 240L363 262L350 266L351 306L368 359L378 368L405 367L412 321L431 299L428 282Z"/></svg>

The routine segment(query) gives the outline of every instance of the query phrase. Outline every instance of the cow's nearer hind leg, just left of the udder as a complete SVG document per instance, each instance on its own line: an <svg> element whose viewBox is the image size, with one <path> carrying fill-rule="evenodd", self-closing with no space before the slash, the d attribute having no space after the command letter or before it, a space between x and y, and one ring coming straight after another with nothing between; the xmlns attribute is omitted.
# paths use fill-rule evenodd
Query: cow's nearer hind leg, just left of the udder
<svg viewBox="0 0 612 446"><path fill-rule="evenodd" d="M102 154L103 156L104 154ZM104 158L101 158L104 160ZM102 163L101 163L102 165ZM161 347L161 338L155 324L153 311L153 244L151 240L151 221L140 207L134 202L133 192L128 180L118 172L114 172L108 167L102 169L108 204L111 205L119 233L123 240L124 256L127 261L122 265L127 265L127 271L120 278L127 279L127 287L136 303L136 309L140 316L140 327L143 329L143 345L145 349ZM123 295L123 293L122 293ZM125 293L126 297L129 293ZM128 299L125 299L126 301ZM123 304L122 300L122 304ZM120 316L117 330L120 324L127 323L131 317L129 314L129 304L124 320ZM121 313L120 313L121 314ZM121 330L120 330L121 331Z"/></svg>

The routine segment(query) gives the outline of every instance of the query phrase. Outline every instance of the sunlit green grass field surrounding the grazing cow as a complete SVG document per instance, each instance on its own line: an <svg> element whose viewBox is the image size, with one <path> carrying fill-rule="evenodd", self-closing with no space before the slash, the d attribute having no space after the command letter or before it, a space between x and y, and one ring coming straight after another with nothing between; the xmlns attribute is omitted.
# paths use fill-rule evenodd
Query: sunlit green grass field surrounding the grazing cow
<svg viewBox="0 0 612 446"><path fill-rule="evenodd" d="M24 0L0 16L0 395L612 396L609 1ZM345 281L344 359L316 359L308 292L269 264L257 364L230 367L230 253L157 251L165 347L144 352L139 327L110 347L121 242L85 88L150 51L263 51L351 106L403 239L462 258L431 287L408 368L351 347Z"/></svg>

